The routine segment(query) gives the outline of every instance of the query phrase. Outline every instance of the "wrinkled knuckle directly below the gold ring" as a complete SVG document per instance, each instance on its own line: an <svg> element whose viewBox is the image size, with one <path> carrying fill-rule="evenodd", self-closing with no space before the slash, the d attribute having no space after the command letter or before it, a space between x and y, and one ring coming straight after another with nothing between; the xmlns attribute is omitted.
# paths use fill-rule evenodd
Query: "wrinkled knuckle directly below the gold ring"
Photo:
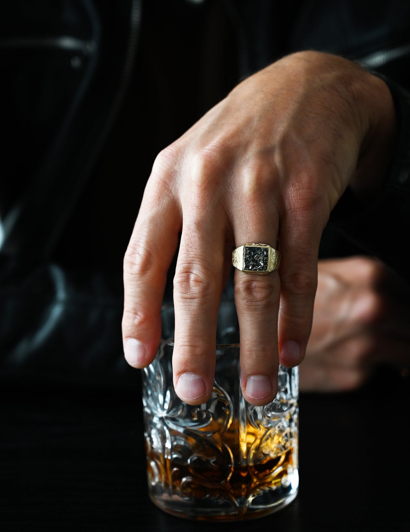
<svg viewBox="0 0 410 532"><path fill-rule="evenodd" d="M240 304L255 305L263 309L274 305L278 290L262 276L241 275L235 284L235 300Z"/></svg>

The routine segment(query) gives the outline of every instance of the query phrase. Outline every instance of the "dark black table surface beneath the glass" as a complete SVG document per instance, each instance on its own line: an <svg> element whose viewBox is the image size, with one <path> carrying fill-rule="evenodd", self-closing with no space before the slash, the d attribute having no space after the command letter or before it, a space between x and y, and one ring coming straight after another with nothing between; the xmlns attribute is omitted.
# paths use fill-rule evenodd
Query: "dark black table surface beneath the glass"
<svg viewBox="0 0 410 532"><path fill-rule="evenodd" d="M300 492L287 508L235 523L169 516L147 495L135 392L2 389L0 530L287 532L410 530L410 381L301 395Z"/></svg>

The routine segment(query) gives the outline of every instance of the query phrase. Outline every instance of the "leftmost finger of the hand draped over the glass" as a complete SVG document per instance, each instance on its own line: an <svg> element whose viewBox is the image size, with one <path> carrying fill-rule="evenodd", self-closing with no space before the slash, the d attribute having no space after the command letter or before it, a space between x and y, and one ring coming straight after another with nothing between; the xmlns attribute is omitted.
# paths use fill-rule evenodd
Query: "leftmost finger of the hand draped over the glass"
<svg viewBox="0 0 410 532"><path fill-rule="evenodd" d="M124 356L135 368L155 358L161 337L161 305L181 216L155 181L147 184L124 257Z"/></svg>

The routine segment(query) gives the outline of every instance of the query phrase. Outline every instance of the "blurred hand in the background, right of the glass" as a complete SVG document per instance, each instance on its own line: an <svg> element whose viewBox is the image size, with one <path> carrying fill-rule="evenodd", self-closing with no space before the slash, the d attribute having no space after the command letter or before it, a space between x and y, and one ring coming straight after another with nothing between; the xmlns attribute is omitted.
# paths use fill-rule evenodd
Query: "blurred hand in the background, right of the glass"
<svg viewBox="0 0 410 532"><path fill-rule="evenodd" d="M408 366L409 287L365 257L320 261L318 273L301 390L352 390L377 364Z"/></svg>

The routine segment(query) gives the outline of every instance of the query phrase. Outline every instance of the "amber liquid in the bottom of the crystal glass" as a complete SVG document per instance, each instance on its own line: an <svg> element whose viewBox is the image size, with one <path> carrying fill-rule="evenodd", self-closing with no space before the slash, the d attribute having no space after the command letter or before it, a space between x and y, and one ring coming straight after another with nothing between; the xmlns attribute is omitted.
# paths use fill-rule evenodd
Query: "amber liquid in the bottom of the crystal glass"
<svg viewBox="0 0 410 532"><path fill-rule="evenodd" d="M253 498L286 483L295 466L291 436L289 428L281 433L250 423L240 430L236 421L222 434L216 431L202 442L191 438L189 447L175 446L162 456L147 448L148 477L154 464L156 483L166 496L175 494L197 504L210 498L232 501L240 515Z"/></svg>

